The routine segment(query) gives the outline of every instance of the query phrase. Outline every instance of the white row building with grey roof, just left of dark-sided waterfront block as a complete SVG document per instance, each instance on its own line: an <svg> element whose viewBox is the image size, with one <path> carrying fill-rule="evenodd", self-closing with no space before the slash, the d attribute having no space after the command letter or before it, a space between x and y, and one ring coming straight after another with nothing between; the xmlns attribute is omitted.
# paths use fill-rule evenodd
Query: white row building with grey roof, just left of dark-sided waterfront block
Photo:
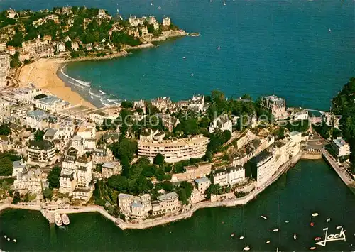
<svg viewBox="0 0 355 252"><path fill-rule="evenodd" d="M222 187L226 185L236 185L244 182L246 179L246 172L243 166L231 166L224 169L216 170L213 174L213 184Z"/></svg>

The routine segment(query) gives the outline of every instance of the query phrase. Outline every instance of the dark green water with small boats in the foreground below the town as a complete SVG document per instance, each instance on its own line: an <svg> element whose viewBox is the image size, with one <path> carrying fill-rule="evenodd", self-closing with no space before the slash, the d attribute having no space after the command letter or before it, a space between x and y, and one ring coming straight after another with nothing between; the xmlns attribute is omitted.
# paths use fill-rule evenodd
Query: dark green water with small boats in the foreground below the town
<svg viewBox="0 0 355 252"><path fill-rule="evenodd" d="M319 215L312 217L315 212ZM0 214L0 248L3 251L243 251L249 246L251 251L266 252L310 251L315 246L316 251L354 251L354 214L354 194L337 173L323 160L301 160L244 207L200 209L190 219L145 230L122 231L98 213L69 214L70 225L60 229L49 226L40 212L6 209ZM315 224L313 227L311 222ZM316 237L324 240L325 228L328 236L339 234L341 229L337 226L342 226L346 241L328 241L324 247L315 244ZM244 239L240 240L240 236Z"/></svg>

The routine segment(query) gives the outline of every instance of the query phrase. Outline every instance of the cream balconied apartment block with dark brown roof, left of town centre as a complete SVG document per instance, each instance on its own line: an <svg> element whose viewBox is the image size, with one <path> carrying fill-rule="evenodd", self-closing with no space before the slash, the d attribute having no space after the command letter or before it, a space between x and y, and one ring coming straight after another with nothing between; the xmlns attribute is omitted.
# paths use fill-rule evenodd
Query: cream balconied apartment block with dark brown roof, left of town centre
<svg viewBox="0 0 355 252"><path fill-rule="evenodd" d="M55 146L48 140L28 141L27 153L28 161L38 165L52 165L57 159Z"/></svg>

